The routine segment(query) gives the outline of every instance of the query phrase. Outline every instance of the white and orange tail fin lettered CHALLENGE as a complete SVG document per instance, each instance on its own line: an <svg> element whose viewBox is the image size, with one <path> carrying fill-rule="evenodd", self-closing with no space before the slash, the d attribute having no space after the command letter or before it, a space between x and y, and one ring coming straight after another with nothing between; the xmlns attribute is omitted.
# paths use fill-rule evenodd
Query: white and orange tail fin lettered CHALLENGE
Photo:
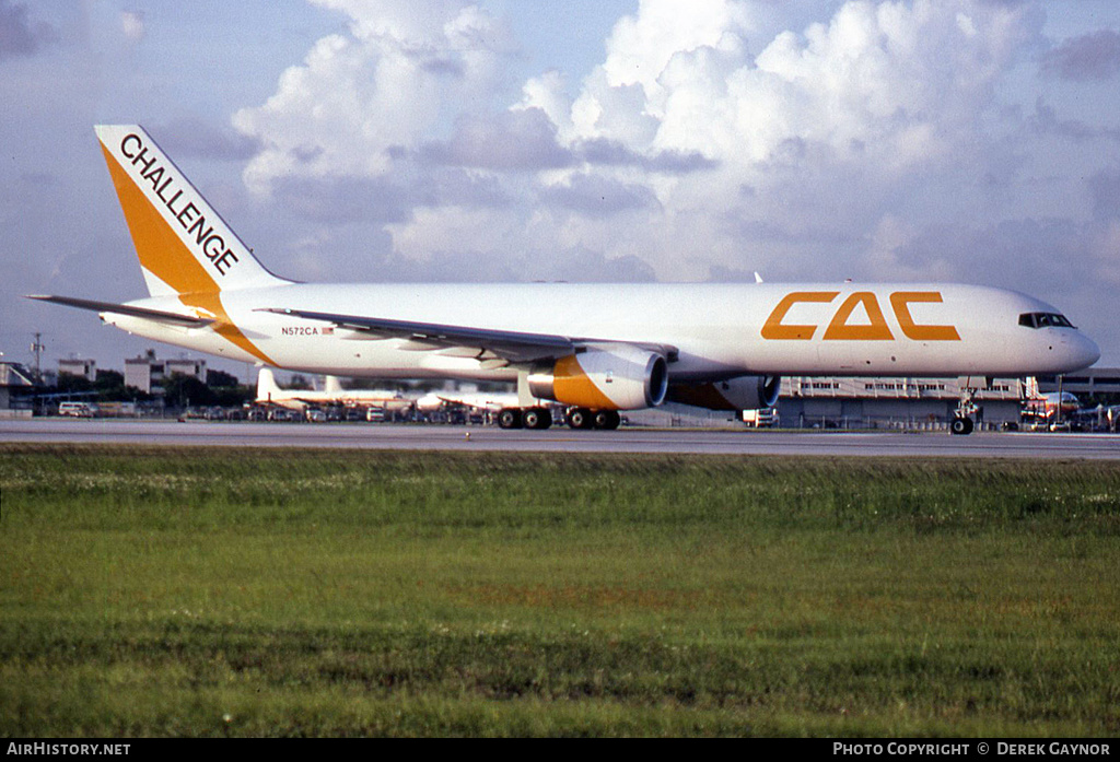
<svg viewBox="0 0 1120 762"><path fill-rule="evenodd" d="M282 285L139 124L97 125L152 297Z"/></svg>

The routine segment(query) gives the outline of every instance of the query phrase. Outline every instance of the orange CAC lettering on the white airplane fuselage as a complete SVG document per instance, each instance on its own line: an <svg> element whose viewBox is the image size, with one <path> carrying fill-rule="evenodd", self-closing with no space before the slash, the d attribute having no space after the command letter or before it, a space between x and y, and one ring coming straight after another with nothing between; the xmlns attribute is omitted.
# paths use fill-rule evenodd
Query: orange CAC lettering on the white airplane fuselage
<svg viewBox="0 0 1120 762"><path fill-rule="evenodd" d="M831 304L839 291L794 291L782 298L774 311L763 324L762 336L771 341L808 341L813 338L819 323L786 323L785 319L795 304ZM909 305L914 303L935 303L942 301L940 291L895 291L889 297L890 308L903 336L915 341L960 341L961 337L953 326L932 326L914 322ZM870 322L849 323L852 313L862 307ZM879 299L871 291L856 291L848 295L824 329L821 337L824 341L893 341L894 332L887 324Z"/></svg>

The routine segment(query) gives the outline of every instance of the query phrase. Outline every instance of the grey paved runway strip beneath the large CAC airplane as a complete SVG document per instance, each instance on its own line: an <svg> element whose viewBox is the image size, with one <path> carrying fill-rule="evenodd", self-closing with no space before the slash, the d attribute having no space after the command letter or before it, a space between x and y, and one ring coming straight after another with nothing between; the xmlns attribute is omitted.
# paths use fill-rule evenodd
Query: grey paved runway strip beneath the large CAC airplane
<svg viewBox="0 0 1120 762"><path fill-rule="evenodd" d="M774 432L752 430L503 431L489 426L0 421L0 442L744 455L1045 458L1120 461L1120 435L1077 433Z"/></svg>

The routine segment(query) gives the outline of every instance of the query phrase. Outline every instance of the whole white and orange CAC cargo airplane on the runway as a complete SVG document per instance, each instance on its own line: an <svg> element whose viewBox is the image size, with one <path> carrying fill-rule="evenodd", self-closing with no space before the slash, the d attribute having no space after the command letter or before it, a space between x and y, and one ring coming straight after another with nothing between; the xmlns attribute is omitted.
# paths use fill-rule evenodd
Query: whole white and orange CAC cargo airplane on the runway
<svg viewBox="0 0 1120 762"><path fill-rule="evenodd" d="M263 366L515 382L506 427L549 426L541 401L567 405L573 427L612 429L618 411L666 401L768 407L782 375L1015 377L1100 356L1049 304L976 285L295 283L258 262L142 128L96 133L150 295L34 298Z"/></svg>

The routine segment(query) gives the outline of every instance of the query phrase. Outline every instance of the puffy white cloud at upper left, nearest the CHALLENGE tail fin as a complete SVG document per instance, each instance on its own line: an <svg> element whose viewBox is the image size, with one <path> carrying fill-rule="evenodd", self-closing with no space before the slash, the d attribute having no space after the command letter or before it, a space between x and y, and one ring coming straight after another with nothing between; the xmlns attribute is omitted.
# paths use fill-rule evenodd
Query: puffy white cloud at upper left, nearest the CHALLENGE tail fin
<svg viewBox="0 0 1120 762"><path fill-rule="evenodd" d="M264 147L244 172L260 194L281 177L391 172L394 151L430 141L463 104L487 103L511 55L503 25L461 2L317 4L347 13L349 34L319 39L267 103L233 117ZM469 141L468 130L463 142ZM474 147L459 148L463 158L477 158Z"/></svg>

